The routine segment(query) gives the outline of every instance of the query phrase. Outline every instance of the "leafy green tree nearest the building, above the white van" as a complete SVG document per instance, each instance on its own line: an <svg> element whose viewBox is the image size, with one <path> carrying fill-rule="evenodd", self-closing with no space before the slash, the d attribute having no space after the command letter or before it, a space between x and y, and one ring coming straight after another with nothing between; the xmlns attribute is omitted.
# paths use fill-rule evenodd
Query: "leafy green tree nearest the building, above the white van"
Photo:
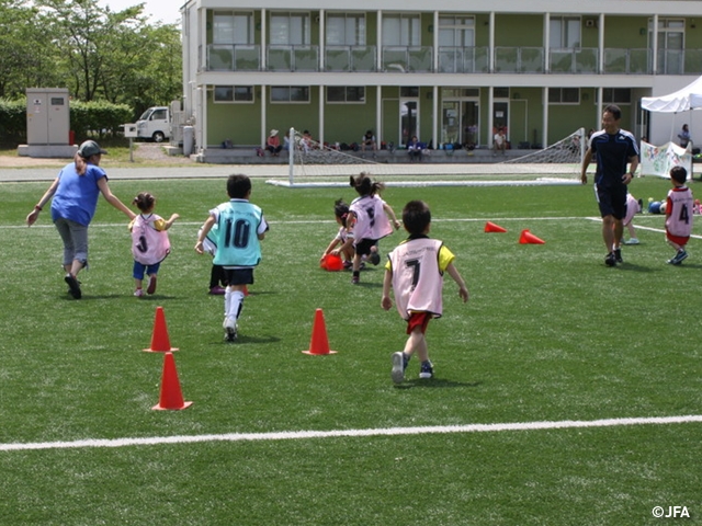
<svg viewBox="0 0 702 526"><path fill-rule="evenodd" d="M125 103L135 114L182 91L180 32L148 24L139 3L123 11L97 0L35 0L55 35L64 84L82 101Z"/></svg>

